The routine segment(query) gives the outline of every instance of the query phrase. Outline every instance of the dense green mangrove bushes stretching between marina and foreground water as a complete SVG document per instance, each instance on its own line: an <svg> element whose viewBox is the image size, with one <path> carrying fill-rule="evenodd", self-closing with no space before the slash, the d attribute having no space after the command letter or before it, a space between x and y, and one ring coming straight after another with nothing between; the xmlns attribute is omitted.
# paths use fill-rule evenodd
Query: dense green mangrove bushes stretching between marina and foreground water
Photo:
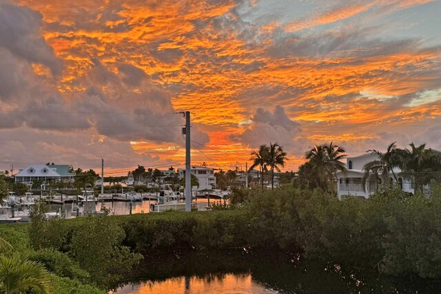
<svg viewBox="0 0 441 294"><path fill-rule="evenodd" d="M434 181L430 197L393 187L367 200L292 187L233 192L235 209L37 218L0 226L0 238L51 271L55 288L76 285L83 293L99 293L94 284L122 282L139 253L149 260L182 250L241 247L299 252L387 275L441 277L441 185Z"/></svg>

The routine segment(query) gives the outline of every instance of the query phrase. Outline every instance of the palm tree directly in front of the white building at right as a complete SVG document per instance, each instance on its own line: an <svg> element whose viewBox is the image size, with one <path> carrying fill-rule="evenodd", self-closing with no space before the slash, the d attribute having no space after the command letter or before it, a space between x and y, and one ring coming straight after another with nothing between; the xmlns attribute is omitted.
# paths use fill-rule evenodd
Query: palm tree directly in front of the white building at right
<svg viewBox="0 0 441 294"><path fill-rule="evenodd" d="M392 174L396 182L398 178L393 171L394 167L400 167L402 165L402 149L398 149L396 142L393 142L387 146L386 152L380 152L376 149L367 150L367 153L376 155L378 159L367 162L362 168L365 174L362 178L363 189L365 189L365 184L369 182L375 182L375 187L377 188L378 177L381 176L384 183L388 183L389 173Z"/></svg>

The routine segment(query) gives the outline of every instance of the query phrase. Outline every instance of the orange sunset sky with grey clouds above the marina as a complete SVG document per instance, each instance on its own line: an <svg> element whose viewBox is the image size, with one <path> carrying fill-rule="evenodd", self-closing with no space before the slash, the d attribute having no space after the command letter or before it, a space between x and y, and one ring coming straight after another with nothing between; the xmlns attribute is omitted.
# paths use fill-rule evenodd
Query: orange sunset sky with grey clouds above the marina
<svg viewBox="0 0 441 294"><path fill-rule="evenodd" d="M441 1L0 0L0 169L441 149Z"/></svg>

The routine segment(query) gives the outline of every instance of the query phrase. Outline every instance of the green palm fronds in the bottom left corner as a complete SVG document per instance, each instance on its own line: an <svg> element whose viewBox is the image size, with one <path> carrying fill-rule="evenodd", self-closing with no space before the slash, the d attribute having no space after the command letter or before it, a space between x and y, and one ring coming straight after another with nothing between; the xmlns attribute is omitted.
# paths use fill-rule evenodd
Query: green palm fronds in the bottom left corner
<svg viewBox="0 0 441 294"><path fill-rule="evenodd" d="M23 260L18 253L11 258L0 256L0 289L1 293L28 293L30 289L37 293L52 293L50 273L43 264Z"/></svg>

